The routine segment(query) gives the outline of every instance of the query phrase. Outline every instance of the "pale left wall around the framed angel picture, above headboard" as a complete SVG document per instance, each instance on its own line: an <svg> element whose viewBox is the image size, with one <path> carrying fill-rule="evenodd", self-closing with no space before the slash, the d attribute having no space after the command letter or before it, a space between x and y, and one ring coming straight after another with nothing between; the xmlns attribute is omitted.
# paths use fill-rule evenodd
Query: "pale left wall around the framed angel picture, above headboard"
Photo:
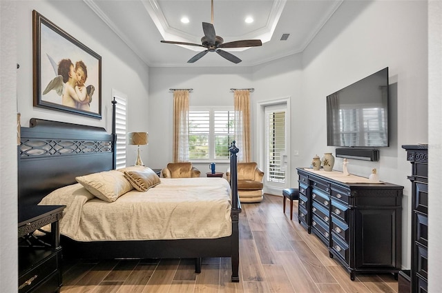
<svg viewBox="0 0 442 293"><path fill-rule="evenodd" d="M102 57L102 119L79 116L32 106L32 10L65 30ZM21 124L32 117L80 123L106 128L111 132L112 89L128 97L128 131L148 128L148 67L106 26L84 1L17 1L18 108ZM95 98L95 97L94 97ZM131 146L128 147L129 149ZM142 153L147 160L147 154ZM128 152L127 162L135 161Z"/></svg>

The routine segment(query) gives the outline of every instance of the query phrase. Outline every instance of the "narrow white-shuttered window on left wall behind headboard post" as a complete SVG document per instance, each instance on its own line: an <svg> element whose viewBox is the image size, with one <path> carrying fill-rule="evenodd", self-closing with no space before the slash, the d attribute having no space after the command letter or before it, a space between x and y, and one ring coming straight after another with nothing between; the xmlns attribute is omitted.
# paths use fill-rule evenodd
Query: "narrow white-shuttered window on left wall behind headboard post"
<svg viewBox="0 0 442 293"><path fill-rule="evenodd" d="M113 90L113 97L117 104L115 106L115 133L117 134L117 169L126 167L126 97L124 94L117 94Z"/></svg>

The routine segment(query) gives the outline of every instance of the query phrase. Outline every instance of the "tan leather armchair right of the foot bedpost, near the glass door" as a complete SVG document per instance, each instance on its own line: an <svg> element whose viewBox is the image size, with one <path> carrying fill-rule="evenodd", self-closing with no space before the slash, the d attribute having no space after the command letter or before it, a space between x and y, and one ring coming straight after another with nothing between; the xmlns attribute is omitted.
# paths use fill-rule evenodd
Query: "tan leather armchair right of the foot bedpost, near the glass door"
<svg viewBox="0 0 442 293"><path fill-rule="evenodd" d="M226 172L227 181L230 182L230 170ZM241 203L259 203L262 201L262 179L264 172L255 162L238 163L238 196Z"/></svg>

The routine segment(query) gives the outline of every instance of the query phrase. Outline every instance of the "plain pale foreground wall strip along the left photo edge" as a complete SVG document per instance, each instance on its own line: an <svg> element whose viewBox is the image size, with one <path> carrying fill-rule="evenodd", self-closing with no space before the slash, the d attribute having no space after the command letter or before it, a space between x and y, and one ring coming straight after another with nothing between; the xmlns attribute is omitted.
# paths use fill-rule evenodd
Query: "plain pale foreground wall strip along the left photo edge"
<svg viewBox="0 0 442 293"><path fill-rule="evenodd" d="M0 292L17 291L15 3L0 1Z"/></svg>

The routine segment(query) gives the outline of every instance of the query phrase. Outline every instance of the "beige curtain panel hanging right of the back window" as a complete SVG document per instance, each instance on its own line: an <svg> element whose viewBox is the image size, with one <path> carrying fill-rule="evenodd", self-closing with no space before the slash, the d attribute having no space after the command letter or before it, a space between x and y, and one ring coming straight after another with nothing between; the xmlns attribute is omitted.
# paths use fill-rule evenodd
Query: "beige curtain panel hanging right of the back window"
<svg viewBox="0 0 442 293"><path fill-rule="evenodd" d="M249 162L251 152L250 141L250 91L235 90L233 92L235 106L235 140L239 162Z"/></svg>

